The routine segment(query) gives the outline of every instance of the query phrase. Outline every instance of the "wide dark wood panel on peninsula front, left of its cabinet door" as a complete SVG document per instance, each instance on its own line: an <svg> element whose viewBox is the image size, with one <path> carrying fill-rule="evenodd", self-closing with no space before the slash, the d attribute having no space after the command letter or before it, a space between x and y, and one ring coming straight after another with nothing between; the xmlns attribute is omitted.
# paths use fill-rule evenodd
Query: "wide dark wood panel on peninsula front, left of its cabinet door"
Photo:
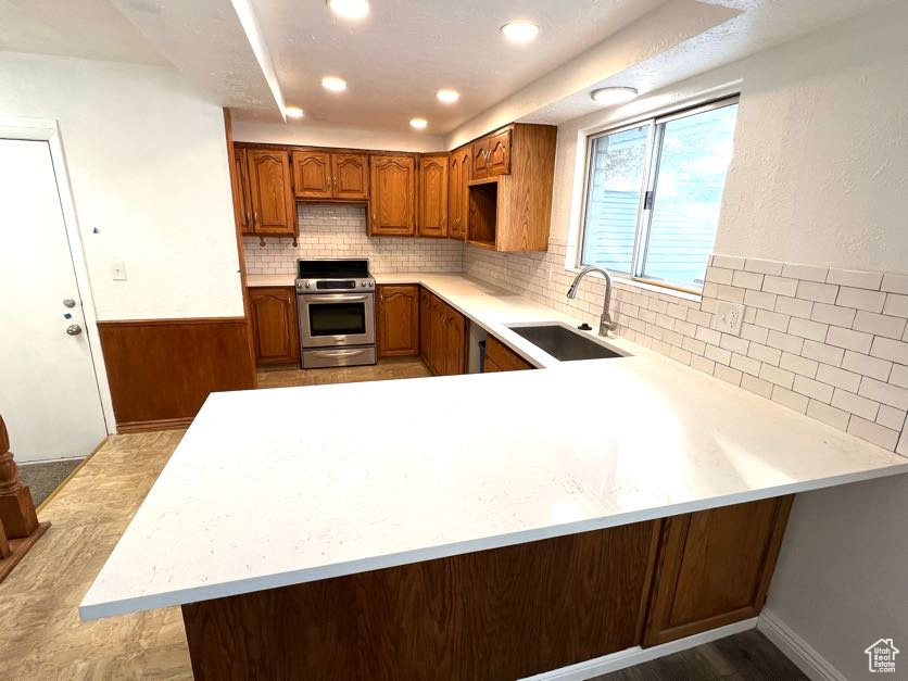
<svg viewBox="0 0 908 681"><path fill-rule="evenodd" d="M658 521L182 606L197 680L513 681L639 639Z"/></svg>

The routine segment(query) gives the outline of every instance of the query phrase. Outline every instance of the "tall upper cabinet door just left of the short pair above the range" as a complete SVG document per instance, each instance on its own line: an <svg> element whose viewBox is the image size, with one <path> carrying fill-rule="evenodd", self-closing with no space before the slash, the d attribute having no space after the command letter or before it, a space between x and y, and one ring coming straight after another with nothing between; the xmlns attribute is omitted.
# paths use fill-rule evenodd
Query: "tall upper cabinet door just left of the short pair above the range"
<svg viewBox="0 0 908 681"><path fill-rule="evenodd" d="M290 190L289 154L286 151L249 149L245 155L254 234L294 235L297 206Z"/></svg>

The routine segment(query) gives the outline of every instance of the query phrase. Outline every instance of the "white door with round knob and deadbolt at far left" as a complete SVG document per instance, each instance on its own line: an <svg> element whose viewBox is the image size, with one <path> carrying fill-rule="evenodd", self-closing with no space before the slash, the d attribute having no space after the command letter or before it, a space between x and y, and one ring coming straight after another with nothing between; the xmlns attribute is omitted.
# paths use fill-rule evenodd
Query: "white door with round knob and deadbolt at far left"
<svg viewBox="0 0 908 681"><path fill-rule="evenodd" d="M20 463L106 434L46 141L0 139L0 415Z"/></svg>

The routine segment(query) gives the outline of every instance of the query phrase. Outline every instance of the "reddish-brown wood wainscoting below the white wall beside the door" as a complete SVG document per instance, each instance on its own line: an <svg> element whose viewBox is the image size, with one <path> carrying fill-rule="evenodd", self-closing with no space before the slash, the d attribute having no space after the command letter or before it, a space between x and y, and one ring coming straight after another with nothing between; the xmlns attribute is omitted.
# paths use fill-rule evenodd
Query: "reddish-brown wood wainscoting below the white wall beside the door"
<svg viewBox="0 0 908 681"><path fill-rule="evenodd" d="M188 426L211 392L255 388L243 317L99 321L117 432Z"/></svg>

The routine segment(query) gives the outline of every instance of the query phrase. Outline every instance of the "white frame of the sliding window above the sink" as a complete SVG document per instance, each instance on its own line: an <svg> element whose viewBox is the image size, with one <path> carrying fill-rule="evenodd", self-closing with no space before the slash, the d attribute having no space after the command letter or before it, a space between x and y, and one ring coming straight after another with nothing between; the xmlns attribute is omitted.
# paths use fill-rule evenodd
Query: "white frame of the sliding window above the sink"
<svg viewBox="0 0 908 681"><path fill-rule="evenodd" d="M715 109L723 106L731 106L737 104L741 100L741 93L722 96L717 99L711 99L706 102L686 105L683 108L673 109L663 112L659 115L647 115L625 121L608 127L585 131L585 161L583 163L582 177L582 192L580 196L580 226L578 230L577 251L575 256L575 267L582 268L583 265L583 244L587 231L587 202L590 191L590 168L593 159L593 143L596 139L616 135L625 130L650 126L646 138L646 156L643 161L643 173L641 174L641 190L640 202L636 209L636 225L634 227L634 242L631 254L631 267L629 273L615 272L617 277L628 279L638 285L644 285L647 288L654 287L656 289L667 289L669 291L677 291L682 294L701 297L702 289L693 287L684 287L677 283L666 282L660 279L653 279L643 275L646 264L646 251L650 241L650 229L653 223L653 210L645 206L646 197L652 191L653 201L655 201L656 180L659 172L659 162L661 160L661 137L665 134L664 124L678 118L693 116ZM611 270L609 270L611 272Z"/></svg>

